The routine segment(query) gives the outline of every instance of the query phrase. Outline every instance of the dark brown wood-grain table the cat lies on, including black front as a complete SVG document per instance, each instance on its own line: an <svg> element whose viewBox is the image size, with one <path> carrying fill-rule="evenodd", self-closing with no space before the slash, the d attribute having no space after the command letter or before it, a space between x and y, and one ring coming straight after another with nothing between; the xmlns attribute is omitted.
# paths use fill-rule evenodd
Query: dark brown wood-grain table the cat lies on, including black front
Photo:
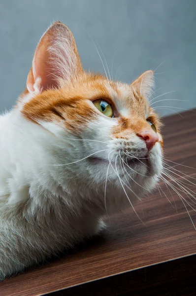
<svg viewBox="0 0 196 296"><path fill-rule="evenodd" d="M196 111L181 114L163 120L165 157L196 168ZM196 183L196 169L186 166L174 168ZM196 185L190 185L196 192ZM196 295L196 230L177 193L172 190L172 197L162 189L162 196L156 190L135 206L143 223L131 209L110 218L100 237L68 256L0 283L0 296ZM195 211L188 210L196 225Z"/></svg>

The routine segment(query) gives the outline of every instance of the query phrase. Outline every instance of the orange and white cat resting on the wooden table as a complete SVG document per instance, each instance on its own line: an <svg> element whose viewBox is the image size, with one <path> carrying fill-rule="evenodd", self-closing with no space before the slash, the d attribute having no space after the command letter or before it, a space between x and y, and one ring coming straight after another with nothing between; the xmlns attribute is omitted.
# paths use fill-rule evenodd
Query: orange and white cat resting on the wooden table
<svg viewBox="0 0 196 296"><path fill-rule="evenodd" d="M15 107L0 116L0 279L98 234L162 174L153 71L130 85L85 72L61 22L41 37ZM128 192L129 191L129 192Z"/></svg>

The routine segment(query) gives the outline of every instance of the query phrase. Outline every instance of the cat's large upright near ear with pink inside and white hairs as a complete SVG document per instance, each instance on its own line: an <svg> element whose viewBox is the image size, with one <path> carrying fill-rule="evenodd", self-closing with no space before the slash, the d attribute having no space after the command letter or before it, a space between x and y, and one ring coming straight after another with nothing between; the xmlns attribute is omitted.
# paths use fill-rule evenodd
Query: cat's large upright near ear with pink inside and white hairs
<svg viewBox="0 0 196 296"><path fill-rule="evenodd" d="M58 87L82 72L82 65L71 31L56 22L41 37L27 78L29 92Z"/></svg>

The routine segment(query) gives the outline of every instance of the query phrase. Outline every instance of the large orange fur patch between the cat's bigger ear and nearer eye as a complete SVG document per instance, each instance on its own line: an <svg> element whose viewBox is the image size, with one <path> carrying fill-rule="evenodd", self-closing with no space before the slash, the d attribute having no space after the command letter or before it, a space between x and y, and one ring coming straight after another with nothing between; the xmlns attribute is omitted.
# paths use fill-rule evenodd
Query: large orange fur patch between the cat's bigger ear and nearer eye
<svg viewBox="0 0 196 296"><path fill-rule="evenodd" d="M23 115L37 123L39 120L62 122L70 131L76 131L96 118L97 109L88 100L111 100L102 75L83 73L74 83L60 89L49 89L33 97L23 109Z"/></svg>

